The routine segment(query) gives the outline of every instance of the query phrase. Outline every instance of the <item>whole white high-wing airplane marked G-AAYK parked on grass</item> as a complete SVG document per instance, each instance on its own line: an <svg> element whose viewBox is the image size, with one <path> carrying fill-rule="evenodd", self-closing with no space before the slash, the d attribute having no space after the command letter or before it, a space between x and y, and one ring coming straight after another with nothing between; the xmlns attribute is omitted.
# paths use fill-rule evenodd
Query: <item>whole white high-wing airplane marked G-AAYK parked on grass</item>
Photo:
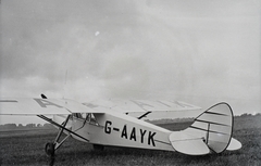
<svg viewBox="0 0 261 166"><path fill-rule="evenodd" d="M98 100L79 103L69 99L48 99L45 94L34 99L0 100L0 115L36 115L59 129L54 141L46 144L46 154L51 157L69 137L90 143L95 150L125 146L207 155L241 148L241 143L232 138L234 115L226 102L206 110L181 131L144 120L153 113L199 108L179 101ZM65 133L63 139L62 133Z"/></svg>

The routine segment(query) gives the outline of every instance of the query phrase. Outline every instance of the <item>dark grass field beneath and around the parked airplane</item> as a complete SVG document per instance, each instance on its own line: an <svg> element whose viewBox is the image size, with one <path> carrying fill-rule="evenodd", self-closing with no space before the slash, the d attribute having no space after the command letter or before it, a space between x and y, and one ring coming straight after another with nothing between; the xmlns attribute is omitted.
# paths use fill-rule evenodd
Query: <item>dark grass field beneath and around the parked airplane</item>
<svg viewBox="0 0 261 166"><path fill-rule="evenodd" d="M160 126L178 130L188 125L182 123ZM55 136L57 130L52 129L0 131L0 165L49 165L45 144L53 141ZM112 146L104 151L94 151L91 145L70 138L57 151L54 165L261 165L261 116L236 117L234 138L243 143L243 149L206 156Z"/></svg>

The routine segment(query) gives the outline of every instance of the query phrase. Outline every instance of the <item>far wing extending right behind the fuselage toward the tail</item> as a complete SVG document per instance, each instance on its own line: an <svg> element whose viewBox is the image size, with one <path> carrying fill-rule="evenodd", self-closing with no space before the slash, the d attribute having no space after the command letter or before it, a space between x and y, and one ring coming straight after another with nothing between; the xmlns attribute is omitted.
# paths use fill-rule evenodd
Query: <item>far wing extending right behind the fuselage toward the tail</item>
<svg viewBox="0 0 261 166"><path fill-rule="evenodd" d="M97 112L121 112L138 118L195 117L201 107L166 100L96 100L83 103Z"/></svg>

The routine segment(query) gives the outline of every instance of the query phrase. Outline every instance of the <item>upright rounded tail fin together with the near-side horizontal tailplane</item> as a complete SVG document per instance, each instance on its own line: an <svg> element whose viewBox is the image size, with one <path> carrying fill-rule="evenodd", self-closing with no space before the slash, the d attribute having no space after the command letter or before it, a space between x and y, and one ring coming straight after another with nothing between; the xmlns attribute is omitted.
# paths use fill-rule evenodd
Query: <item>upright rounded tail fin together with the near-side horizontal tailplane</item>
<svg viewBox="0 0 261 166"><path fill-rule="evenodd" d="M172 132L170 141L176 151L185 154L221 153L231 143L233 123L231 106L219 103L200 114L187 129Z"/></svg>

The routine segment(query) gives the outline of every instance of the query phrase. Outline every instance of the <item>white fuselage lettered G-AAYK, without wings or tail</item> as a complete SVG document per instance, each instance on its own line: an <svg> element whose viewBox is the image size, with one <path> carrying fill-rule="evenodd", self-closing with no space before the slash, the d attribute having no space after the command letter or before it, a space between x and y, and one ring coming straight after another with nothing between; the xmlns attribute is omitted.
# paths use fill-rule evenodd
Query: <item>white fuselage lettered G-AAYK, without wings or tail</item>
<svg viewBox="0 0 261 166"><path fill-rule="evenodd" d="M61 124L64 118L57 115L53 120ZM172 131L122 113L73 116L66 128L70 127L94 144L174 151L169 140ZM77 136L72 137L85 141Z"/></svg>

